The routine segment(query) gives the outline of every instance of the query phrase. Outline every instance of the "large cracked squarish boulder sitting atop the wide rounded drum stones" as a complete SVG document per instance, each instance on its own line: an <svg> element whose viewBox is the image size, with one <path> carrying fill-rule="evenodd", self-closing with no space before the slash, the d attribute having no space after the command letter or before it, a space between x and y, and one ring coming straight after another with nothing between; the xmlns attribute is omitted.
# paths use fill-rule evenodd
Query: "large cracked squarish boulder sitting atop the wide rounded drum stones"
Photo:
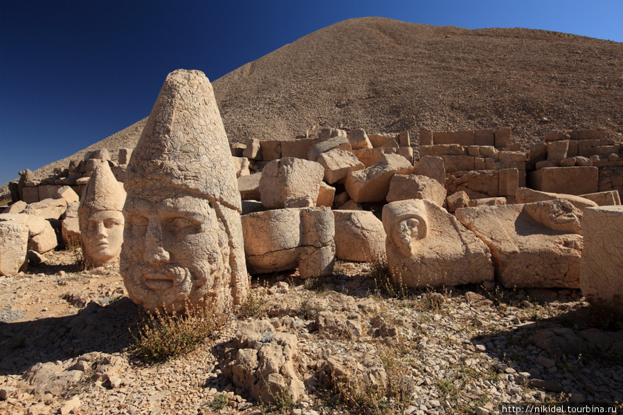
<svg viewBox="0 0 623 415"><path fill-rule="evenodd" d="M316 205L325 169L316 162L286 157L264 166L260 200L267 209L283 208L286 198L311 196Z"/></svg>

